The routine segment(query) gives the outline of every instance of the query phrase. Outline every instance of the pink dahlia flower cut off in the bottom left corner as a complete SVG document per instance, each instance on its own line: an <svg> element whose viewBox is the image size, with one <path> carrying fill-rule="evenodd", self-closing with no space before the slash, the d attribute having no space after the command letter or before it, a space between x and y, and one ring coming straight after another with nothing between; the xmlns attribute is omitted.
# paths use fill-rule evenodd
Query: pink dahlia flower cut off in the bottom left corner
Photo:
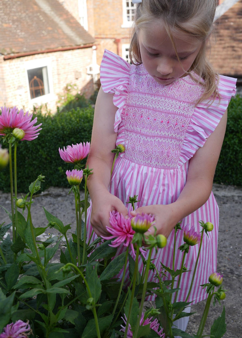
<svg viewBox="0 0 242 338"><path fill-rule="evenodd" d="M28 320L25 323L22 320L18 320L15 323L8 324L3 333L0 334L0 338L26 338L32 333Z"/></svg>

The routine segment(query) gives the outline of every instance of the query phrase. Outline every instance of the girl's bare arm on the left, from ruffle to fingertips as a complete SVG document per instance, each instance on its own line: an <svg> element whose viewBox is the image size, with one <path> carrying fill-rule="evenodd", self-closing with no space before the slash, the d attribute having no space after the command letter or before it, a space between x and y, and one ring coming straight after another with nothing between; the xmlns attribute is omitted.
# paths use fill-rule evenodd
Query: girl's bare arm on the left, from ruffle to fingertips
<svg viewBox="0 0 242 338"><path fill-rule="evenodd" d="M91 224L98 236L109 234L106 226L109 226L110 211L117 210L124 216L127 215L127 209L122 201L108 191L114 159L111 150L116 148L117 133L114 132L116 111L113 94L104 93L100 88L95 105L92 140L87 160L89 169L93 169L93 174L89 175L87 180L92 199Z"/></svg>

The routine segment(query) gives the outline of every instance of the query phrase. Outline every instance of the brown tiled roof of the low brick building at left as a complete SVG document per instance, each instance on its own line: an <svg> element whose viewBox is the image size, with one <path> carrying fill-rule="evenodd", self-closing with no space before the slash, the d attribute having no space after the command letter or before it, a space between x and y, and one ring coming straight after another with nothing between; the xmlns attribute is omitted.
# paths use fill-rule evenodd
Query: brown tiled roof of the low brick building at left
<svg viewBox="0 0 242 338"><path fill-rule="evenodd" d="M0 54L92 43L94 38L58 0L1 0Z"/></svg>

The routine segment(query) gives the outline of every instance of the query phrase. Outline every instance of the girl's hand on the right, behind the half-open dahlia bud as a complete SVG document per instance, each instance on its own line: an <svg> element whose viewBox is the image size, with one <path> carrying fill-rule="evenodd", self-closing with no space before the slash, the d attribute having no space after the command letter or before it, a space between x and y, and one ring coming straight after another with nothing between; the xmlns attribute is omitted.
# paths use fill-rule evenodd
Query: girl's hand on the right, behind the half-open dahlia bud
<svg viewBox="0 0 242 338"><path fill-rule="evenodd" d="M174 210L172 204L167 205L151 205L146 207L140 207L135 211L130 212L132 216L137 214L152 214L155 217L156 235L162 234L166 238L170 235L176 224L179 222L175 219ZM147 234L154 235L154 226L149 228Z"/></svg>

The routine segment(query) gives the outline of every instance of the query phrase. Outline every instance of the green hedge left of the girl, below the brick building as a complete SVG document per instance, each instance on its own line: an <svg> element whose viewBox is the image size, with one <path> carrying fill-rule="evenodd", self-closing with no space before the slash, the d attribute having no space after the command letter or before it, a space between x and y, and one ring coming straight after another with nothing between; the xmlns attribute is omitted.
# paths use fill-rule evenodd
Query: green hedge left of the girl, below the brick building
<svg viewBox="0 0 242 338"><path fill-rule="evenodd" d="M77 108L56 115L37 112L42 130L37 139L19 142L17 148L18 191L26 193L28 186L38 175L45 175L42 190L48 187L69 187L66 170L73 169L60 158L59 147L63 148L91 139L94 108ZM85 164L85 160L83 160ZM0 190L10 191L9 166L0 171Z"/></svg>

